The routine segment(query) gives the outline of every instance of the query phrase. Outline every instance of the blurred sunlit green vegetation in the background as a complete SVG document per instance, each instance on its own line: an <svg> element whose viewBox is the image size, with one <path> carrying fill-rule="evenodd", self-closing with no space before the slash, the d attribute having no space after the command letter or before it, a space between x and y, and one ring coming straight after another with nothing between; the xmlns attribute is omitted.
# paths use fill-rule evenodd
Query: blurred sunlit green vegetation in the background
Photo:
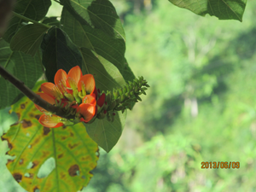
<svg viewBox="0 0 256 192"><path fill-rule="evenodd" d="M113 151L101 150L83 191L256 191L256 3L247 2L242 23L168 1L113 4L124 21L127 61L151 88L128 113ZM15 122L0 113L2 126ZM0 192L23 192L1 146L8 177ZM201 161L239 161L240 168L201 169Z"/></svg>

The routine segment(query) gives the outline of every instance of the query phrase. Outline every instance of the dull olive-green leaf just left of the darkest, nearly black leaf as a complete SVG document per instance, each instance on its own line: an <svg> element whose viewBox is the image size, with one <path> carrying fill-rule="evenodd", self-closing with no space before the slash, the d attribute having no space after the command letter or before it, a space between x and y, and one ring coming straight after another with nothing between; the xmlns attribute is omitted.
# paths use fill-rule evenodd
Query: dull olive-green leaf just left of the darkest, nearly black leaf
<svg viewBox="0 0 256 192"><path fill-rule="evenodd" d="M36 55L48 27L37 24L22 26L12 38L10 48L29 55Z"/></svg>

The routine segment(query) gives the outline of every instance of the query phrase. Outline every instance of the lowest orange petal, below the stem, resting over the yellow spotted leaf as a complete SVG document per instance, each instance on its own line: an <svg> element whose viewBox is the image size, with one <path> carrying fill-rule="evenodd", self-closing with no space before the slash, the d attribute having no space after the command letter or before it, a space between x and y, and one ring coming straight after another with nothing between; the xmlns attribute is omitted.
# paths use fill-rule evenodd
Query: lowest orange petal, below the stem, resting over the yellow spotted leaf
<svg viewBox="0 0 256 192"><path fill-rule="evenodd" d="M38 121L41 125L44 125L46 127L56 128L64 125L63 123L61 123L60 119L61 118L55 114L51 116L42 114Z"/></svg>

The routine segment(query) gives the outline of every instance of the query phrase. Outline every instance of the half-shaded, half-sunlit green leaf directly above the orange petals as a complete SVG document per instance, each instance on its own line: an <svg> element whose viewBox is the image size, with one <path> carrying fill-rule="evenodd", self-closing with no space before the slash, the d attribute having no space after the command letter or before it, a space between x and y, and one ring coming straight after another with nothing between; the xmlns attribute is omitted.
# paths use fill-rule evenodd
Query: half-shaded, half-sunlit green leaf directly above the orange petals
<svg viewBox="0 0 256 192"><path fill-rule="evenodd" d="M112 63L100 55L96 57L90 49L81 48L81 53L83 56L82 70L84 73L93 74L96 88L106 91L121 88L125 85L125 79Z"/></svg>

